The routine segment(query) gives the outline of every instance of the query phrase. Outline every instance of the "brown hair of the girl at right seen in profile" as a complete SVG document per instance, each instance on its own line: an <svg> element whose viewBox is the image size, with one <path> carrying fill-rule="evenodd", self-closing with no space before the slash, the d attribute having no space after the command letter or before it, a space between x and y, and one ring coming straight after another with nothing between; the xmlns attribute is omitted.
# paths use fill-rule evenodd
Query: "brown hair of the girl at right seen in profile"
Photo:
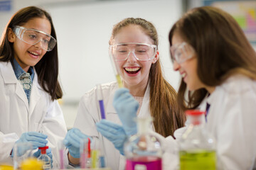
<svg viewBox="0 0 256 170"><path fill-rule="evenodd" d="M234 74L256 79L256 53L240 26L230 14L219 8L193 8L171 28L169 42L178 33L196 51L197 74L207 86L218 86ZM208 91L189 91L188 106L183 101L186 84L181 81L178 103L183 110L196 108Z"/></svg>

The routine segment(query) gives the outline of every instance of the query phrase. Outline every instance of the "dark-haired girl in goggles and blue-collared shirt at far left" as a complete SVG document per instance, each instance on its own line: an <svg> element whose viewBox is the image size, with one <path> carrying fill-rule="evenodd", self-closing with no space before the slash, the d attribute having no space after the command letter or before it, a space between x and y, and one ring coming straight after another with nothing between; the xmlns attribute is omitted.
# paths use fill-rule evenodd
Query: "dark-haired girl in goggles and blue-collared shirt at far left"
<svg viewBox="0 0 256 170"><path fill-rule="evenodd" d="M57 144L66 133L57 101L62 96L50 14L36 6L22 8L10 19L0 44L0 162L12 162L16 143L31 142L33 149L48 145L58 166Z"/></svg>

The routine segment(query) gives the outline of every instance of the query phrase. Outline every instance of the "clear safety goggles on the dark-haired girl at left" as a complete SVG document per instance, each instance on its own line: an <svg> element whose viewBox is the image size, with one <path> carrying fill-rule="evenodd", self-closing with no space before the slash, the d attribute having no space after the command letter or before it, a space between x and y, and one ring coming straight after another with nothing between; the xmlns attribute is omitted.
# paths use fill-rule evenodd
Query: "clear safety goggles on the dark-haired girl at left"
<svg viewBox="0 0 256 170"><path fill-rule="evenodd" d="M15 26L13 31L18 39L29 45L36 45L38 42L41 42L42 49L46 51L53 50L57 42L55 38L41 30Z"/></svg>

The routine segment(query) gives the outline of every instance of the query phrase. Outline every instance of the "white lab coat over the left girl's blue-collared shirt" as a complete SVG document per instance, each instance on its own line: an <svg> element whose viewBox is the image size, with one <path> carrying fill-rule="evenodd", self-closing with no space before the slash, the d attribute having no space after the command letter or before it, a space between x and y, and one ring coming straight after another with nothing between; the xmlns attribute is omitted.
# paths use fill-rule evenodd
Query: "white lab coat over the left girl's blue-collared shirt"
<svg viewBox="0 0 256 170"><path fill-rule="evenodd" d="M35 69L34 69L35 70ZM11 62L0 62L0 163L12 164L14 143L23 132L43 132L53 153L53 167L59 164L58 141L67 132L58 101L38 84L35 72L30 103L14 74ZM67 161L67 160L66 160Z"/></svg>

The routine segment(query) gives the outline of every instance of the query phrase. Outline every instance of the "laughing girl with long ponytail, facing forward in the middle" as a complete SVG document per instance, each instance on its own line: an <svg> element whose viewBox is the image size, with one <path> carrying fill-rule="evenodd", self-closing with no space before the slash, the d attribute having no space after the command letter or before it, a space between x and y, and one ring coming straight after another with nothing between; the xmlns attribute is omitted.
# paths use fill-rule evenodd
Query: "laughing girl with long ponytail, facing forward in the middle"
<svg viewBox="0 0 256 170"><path fill-rule="evenodd" d="M131 94L138 101L138 109L135 116L154 118L151 129L163 136L174 136L174 130L184 126L185 115L181 113L176 103L176 91L164 79L159 60L158 35L156 28L149 21L142 18L125 18L117 23L110 38L110 53L114 52L114 60L118 63L120 75L124 87L124 93ZM120 124L117 112L112 103L114 92L117 91L117 82L102 85L102 93L106 108L106 122ZM81 101L74 127L65 137L69 149L69 159L73 164L78 164L80 157L79 140L73 140L74 136L80 138L100 138L100 145L105 149L107 165L111 169L124 169L124 157L122 148L112 145L110 139L97 132L95 123L100 121L100 110L97 109L98 101L95 89L87 92ZM129 107L127 105L127 107ZM129 109L127 110L129 111ZM107 125L107 129L110 130ZM84 134L86 135L84 135ZM122 141L118 134L112 134ZM118 143L118 142L117 142ZM115 148L116 149L115 149ZM121 154L119 154L119 151Z"/></svg>

